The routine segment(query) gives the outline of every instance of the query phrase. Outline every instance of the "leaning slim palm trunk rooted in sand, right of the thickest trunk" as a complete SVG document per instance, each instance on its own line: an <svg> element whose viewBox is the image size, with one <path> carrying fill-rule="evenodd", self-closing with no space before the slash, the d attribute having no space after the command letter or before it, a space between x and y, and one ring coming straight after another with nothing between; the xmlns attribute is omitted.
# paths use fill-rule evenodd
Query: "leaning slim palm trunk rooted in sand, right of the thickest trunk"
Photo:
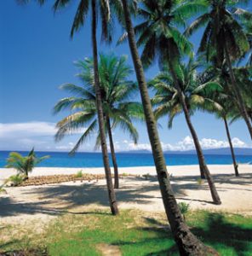
<svg viewBox="0 0 252 256"><path fill-rule="evenodd" d="M177 76L175 74L175 70L173 68L173 63L171 63L171 61L169 61L169 70L170 70L170 73L171 73L171 75L172 75L172 77L173 77L173 79L175 81L176 90L178 90L178 92L179 92L180 103L182 105L183 112L185 114L186 123L188 125L189 130L191 131L192 139L193 139L193 142L194 142L197 154L198 154L199 166L200 166L201 170L203 170L204 175L207 178L207 181L209 183L209 189L210 189L210 192L211 192L211 195L212 195L214 203L216 205L221 205L220 196L218 195L218 192L217 192L217 190L215 188L214 179L211 176L211 174L209 172L209 168L208 168L208 166L205 163L204 156L203 156L203 151L202 151L202 148L201 148L200 143L198 141L197 133L194 130L194 127L192 125L190 113L189 113L188 108L186 106L185 96L183 95L183 92L180 89L180 84L179 84L179 81L178 81Z"/></svg>

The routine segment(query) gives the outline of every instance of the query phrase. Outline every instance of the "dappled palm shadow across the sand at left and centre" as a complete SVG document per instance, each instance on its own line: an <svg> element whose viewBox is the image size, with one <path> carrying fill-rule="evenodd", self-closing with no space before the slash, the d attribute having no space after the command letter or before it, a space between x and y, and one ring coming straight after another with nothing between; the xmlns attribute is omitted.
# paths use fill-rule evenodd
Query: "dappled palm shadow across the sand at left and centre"
<svg viewBox="0 0 252 256"><path fill-rule="evenodd" d="M158 189L156 184L151 184L148 187L140 186L135 189L126 185L124 189L117 190L117 201L148 204L153 196L144 195L144 193L156 189ZM19 191L21 197L0 197L0 217L18 216L21 213L44 213L49 215L60 215L62 213L109 214L107 212L76 212L72 210L74 207L88 207L92 204L108 207L106 185L64 183L36 188L26 187L26 189L20 189Z"/></svg>

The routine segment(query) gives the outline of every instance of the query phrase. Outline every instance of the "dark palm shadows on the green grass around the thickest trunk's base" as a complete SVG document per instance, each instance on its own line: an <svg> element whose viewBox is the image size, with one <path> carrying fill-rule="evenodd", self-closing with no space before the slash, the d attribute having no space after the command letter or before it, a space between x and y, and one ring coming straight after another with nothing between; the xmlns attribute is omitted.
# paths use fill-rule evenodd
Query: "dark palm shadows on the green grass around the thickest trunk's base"
<svg viewBox="0 0 252 256"><path fill-rule="evenodd" d="M138 230L152 230L155 233L154 238L143 239L138 241L138 244L146 245L152 241L165 242L168 239L173 239L171 231L167 227L163 226L155 218L145 218L149 227L137 228ZM215 249L226 249L232 248L237 255L250 255L249 249L251 249L252 241L252 228L243 228L238 224L232 224L224 218L221 213L208 212L207 216L204 218L203 227L192 227L192 233L198 236L201 241L205 244L215 247ZM159 226L159 228L158 228ZM250 242L250 245L249 245ZM125 245L135 245L134 241L117 241L113 245L125 246ZM147 253L146 256L154 255L179 255L178 249L175 245L168 245L167 249L162 249L158 252Z"/></svg>

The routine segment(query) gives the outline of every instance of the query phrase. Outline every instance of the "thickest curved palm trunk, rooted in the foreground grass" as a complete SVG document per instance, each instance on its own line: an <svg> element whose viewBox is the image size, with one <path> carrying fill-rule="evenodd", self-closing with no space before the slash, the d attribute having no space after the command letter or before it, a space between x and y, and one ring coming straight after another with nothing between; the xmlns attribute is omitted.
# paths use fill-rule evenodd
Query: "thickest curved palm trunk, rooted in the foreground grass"
<svg viewBox="0 0 252 256"><path fill-rule="evenodd" d="M152 154L158 174L158 183L162 194L163 206L171 230L180 250L180 255L206 255L206 252L210 255L213 251L209 249L209 247L204 246L203 243L188 229L175 200L175 195L169 182L169 174L166 170L163 150L158 137L157 125L152 112L152 104L147 90L142 63L135 43L135 32L130 18L129 6L127 0L122 0L122 3L123 15L129 38L129 49L134 61L136 78L140 88L140 96L146 116L147 131L152 145Z"/></svg>

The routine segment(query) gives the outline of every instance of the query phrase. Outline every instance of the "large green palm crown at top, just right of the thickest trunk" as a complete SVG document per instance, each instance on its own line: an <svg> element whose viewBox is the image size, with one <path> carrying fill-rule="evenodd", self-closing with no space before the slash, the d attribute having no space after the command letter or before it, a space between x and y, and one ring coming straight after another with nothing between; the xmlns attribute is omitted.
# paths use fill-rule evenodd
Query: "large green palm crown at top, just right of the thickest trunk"
<svg viewBox="0 0 252 256"><path fill-rule="evenodd" d="M197 1L142 1L138 14L143 21L135 26L135 34L137 45L143 46L141 59L146 67L157 57L163 66L168 59L192 53L192 44L178 27L186 26L186 18L203 8L205 5ZM124 38L126 34L119 42Z"/></svg>

